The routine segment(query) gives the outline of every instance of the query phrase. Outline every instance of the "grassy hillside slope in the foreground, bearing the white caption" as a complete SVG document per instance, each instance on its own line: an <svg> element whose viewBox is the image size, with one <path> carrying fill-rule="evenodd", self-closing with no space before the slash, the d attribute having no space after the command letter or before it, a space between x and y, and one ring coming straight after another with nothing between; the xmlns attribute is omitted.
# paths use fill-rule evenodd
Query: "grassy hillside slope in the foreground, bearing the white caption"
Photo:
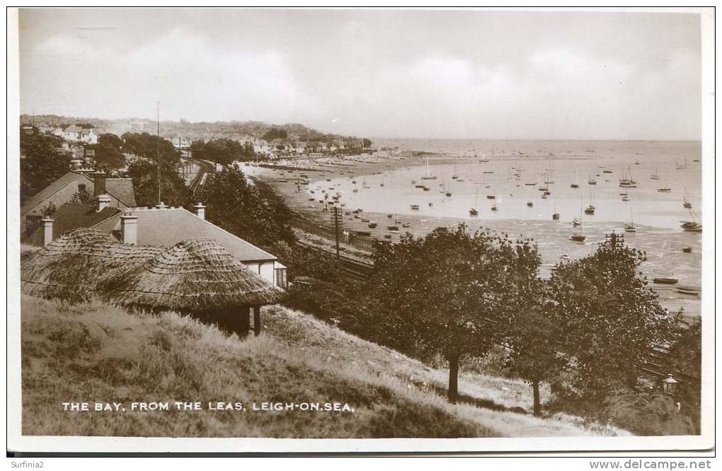
<svg viewBox="0 0 722 471"><path fill-rule="evenodd" d="M227 337L174 313L22 296L22 430L27 435L290 438L583 436L624 433L575 418L449 405L429 369L300 312L268 307L266 332ZM460 390L528 407L508 379L464 375ZM61 402L123 402L123 413L65 412ZM139 412L131 402L341 402L354 412Z"/></svg>

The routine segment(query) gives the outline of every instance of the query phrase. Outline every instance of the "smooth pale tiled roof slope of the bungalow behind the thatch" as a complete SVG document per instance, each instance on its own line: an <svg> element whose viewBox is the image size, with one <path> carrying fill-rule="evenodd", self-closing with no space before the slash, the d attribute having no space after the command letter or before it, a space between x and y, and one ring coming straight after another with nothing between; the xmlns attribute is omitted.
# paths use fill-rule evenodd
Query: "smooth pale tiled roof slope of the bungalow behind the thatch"
<svg viewBox="0 0 722 471"><path fill-rule="evenodd" d="M138 245L170 247L186 239L207 238L214 239L242 262L276 260L276 257L269 252L235 237L230 232L199 218L184 208L136 208L128 209L126 212L138 216ZM121 228L120 216L116 216L116 219L118 221L113 232L118 236ZM103 224L103 226L106 225Z"/></svg>

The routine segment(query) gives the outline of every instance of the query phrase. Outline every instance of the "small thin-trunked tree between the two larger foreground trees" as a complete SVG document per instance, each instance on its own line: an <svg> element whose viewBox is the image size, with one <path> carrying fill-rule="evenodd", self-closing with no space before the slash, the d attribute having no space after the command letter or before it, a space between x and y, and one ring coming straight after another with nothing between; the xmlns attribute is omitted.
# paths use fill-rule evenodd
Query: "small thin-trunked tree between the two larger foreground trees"
<svg viewBox="0 0 722 471"><path fill-rule="evenodd" d="M557 326L543 310L530 309L517 314L510 331L507 366L531 384L534 415L541 415L539 385L554 379L565 363L557 356Z"/></svg>

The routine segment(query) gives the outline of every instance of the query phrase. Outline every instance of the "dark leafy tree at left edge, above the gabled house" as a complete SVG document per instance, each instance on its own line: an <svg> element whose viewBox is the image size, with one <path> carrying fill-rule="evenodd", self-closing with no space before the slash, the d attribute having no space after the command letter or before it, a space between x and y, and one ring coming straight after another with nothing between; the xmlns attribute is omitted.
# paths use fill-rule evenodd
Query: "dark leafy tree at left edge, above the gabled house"
<svg viewBox="0 0 722 471"><path fill-rule="evenodd" d="M45 134L20 133L20 203L70 170L58 148L61 139Z"/></svg>

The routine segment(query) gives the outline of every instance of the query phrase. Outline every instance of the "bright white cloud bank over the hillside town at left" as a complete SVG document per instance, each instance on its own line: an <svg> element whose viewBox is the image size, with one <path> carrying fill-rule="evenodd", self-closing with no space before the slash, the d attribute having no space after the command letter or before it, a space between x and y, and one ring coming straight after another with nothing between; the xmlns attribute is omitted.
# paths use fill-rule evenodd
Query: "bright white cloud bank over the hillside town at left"
<svg viewBox="0 0 722 471"><path fill-rule="evenodd" d="M102 115L147 116L162 102L163 114L194 120L303 118L315 109L299 89L284 58L272 51L220 50L184 30L173 30L135 50L116 50L56 35L38 46L45 64L56 64L55 79L43 87L72 89Z"/></svg>

